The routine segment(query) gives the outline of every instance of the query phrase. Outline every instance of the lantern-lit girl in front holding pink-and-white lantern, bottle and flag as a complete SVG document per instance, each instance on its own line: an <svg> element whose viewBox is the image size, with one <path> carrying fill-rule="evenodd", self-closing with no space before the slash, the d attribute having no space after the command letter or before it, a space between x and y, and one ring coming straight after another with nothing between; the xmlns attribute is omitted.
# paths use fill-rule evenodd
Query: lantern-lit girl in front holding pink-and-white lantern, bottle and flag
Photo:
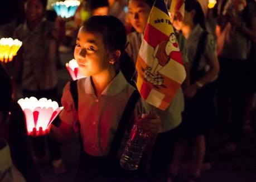
<svg viewBox="0 0 256 182"><path fill-rule="evenodd" d="M61 103L61 124L51 134L66 141L79 134L81 153L78 181L134 181L120 168L123 144L136 117L139 94L115 66L126 44L125 28L117 18L93 16L79 29L74 57L86 78L67 83ZM139 126L156 134L160 119L141 119ZM142 179L140 179L142 180Z"/></svg>

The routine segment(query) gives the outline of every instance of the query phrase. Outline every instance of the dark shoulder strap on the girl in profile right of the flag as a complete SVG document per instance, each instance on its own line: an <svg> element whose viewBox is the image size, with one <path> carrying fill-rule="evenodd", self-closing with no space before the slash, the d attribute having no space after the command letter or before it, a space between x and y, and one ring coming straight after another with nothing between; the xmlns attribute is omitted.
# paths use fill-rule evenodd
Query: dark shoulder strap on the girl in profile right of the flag
<svg viewBox="0 0 256 182"><path fill-rule="evenodd" d="M196 74L197 74L196 71L199 67L202 54L204 53L204 50L205 50L205 41L206 41L207 35L208 35L208 32L204 31L201 34L199 42L197 44L196 54L194 56L192 66L191 66L191 69L190 69L191 80L194 80L195 77L196 77Z"/></svg>

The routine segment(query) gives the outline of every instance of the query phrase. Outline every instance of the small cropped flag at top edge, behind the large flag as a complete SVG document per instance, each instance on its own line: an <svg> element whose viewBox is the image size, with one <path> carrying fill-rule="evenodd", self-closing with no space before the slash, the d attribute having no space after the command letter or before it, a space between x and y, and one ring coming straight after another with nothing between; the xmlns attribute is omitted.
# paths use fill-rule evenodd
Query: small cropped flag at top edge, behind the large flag
<svg viewBox="0 0 256 182"><path fill-rule="evenodd" d="M170 13L176 16L179 21L182 21L185 13L185 0L172 0Z"/></svg>

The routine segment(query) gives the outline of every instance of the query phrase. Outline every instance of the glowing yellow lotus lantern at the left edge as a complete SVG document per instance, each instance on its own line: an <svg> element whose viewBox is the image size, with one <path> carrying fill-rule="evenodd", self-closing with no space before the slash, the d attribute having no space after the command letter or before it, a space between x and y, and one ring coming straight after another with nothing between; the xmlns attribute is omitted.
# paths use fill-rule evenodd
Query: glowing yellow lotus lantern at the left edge
<svg viewBox="0 0 256 182"><path fill-rule="evenodd" d="M15 56L20 49L22 42L18 39L1 38L0 39L0 60L1 62L11 62L13 56Z"/></svg>

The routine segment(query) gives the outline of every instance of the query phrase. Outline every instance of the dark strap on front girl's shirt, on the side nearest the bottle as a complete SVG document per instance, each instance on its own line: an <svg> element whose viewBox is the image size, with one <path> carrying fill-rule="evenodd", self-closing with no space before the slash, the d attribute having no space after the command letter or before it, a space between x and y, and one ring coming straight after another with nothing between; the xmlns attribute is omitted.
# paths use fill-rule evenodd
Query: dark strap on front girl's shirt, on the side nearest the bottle
<svg viewBox="0 0 256 182"><path fill-rule="evenodd" d="M130 124L129 121L131 120L135 105L138 102L139 97L140 97L140 94L139 94L138 90L137 89L134 90L134 92L132 93L131 97L129 98L129 100L125 106L123 115L120 119L120 122L119 122L119 125L117 128L117 132L114 135L112 145L109 150L108 155L110 157L115 158L117 156L119 146L122 143L122 139L123 139L125 130L128 128L128 125Z"/></svg>

